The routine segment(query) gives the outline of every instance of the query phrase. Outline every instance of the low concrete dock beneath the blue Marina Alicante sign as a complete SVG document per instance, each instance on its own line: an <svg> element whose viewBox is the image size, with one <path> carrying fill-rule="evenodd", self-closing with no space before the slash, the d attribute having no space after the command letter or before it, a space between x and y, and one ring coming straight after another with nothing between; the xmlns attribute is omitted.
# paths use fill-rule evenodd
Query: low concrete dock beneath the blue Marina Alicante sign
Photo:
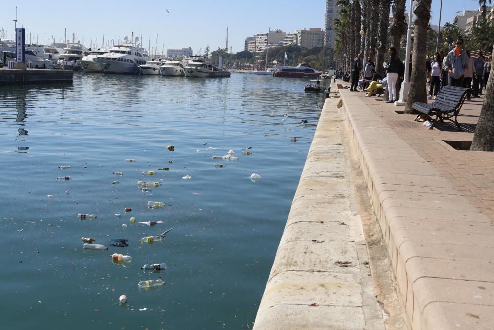
<svg viewBox="0 0 494 330"><path fill-rule="evenodd" d="M48 69L0 69L0 85L35 83L72 83L74 71Z"/></svg>

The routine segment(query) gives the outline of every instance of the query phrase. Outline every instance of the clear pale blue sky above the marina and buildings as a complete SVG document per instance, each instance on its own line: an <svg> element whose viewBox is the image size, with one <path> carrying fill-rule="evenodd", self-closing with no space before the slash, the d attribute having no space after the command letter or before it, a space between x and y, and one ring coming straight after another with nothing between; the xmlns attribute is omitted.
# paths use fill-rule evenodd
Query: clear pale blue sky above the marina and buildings
<svg viewBox="0 0 494 330"><path fill-rule="evenodd" d="M111 39L123 40L132 32L143 39L143 47L158 45L158 52L167 48L191 47L201 53L207 45L211 50L226 45L228 26L229 45L234 52L244 50L244 39L271 29L291 32L304 28L324 27L324 0L216 0L213 5L204 0L188 1L73 1L53 2L40 5L39 0L4 1L0 10L0 29L6 31L7 39L14 32L15 8L18 26L26 29L29 42L51 43L67 39L72 33L90 47L97 38L101 47ZM139 3L142 3L139 5ZM478 0L443 0L441 25L453 21L456 11L478 8ZM432 24L438 24L440 0L432 0ZM407 4L407 10L409 5ZM166 12L166 10L169 11ZM158 43L156 35L158 34ZM150 39L151 38L151 42Z"/></svg>

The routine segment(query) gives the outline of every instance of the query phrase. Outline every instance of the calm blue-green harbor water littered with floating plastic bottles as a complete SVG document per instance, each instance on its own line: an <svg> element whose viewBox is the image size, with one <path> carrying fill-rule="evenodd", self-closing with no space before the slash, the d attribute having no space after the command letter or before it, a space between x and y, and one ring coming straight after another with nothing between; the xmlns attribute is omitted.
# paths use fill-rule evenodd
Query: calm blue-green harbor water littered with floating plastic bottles
<svg viewBox="0 0 494 330"><path fill-rule="evenodd" d="M75 74L72 85L0 87L0 328L251 329L324 102L304 84ZM211 159L230 149L238 161ZM143 192L138 180L162 185ZM129 246L87 251L80 237ZM167 271L140 269L161 262ZM138 290L157 278L166 284Z"/></svg>

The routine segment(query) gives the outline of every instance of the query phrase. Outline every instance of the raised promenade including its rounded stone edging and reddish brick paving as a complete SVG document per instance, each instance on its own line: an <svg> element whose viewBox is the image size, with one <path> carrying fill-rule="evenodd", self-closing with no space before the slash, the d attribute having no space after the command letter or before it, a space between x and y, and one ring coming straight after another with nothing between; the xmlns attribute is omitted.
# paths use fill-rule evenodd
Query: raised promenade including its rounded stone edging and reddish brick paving
<svg viewBox="0 0 494 330"><path fill-rule="evenodd" d="M494 153L444 142L472 140L481 100L457 132L340 92L412 329L493 329Z"/></svg>

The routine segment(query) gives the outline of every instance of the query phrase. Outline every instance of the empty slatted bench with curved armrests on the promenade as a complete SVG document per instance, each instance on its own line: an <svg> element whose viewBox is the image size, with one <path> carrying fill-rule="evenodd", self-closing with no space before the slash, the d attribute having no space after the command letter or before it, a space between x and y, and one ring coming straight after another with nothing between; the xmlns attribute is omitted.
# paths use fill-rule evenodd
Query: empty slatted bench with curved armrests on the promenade
<svg viewBox="0 0 494 330"><path fill-rule="evenodd" d="M450 120L456 124L458 130L461 130L457 117L461 106L470 93L471 90L469 88L444 86L441 89L441 92L437 94L437 98L434 100L434 103L413 103L413 109L420 112L415 120L421 116L425 117L427 120L430 120L430 130L432 130L434 125L438 122L443 123L445 120ZM433 117L436 118L434 119ZM452 119L453 117L454 119Z"/></svg>

